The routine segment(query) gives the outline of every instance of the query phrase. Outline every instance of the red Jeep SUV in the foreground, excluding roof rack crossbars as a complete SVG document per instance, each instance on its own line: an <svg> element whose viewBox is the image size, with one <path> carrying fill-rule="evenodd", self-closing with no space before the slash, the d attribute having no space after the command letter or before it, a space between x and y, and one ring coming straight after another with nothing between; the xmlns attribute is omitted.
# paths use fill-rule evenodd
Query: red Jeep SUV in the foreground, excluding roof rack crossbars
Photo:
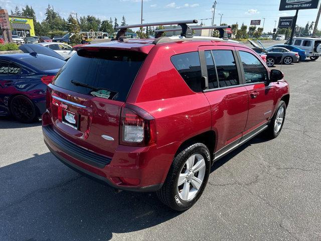
<svg viewBox="0 0 321 241"><path fill-rule="evenodd" d="M70 168L183 211L215 161L279 135L288 102L283 74L235 41L120 39L81 47L58 72L43 134Z"/></svg>

